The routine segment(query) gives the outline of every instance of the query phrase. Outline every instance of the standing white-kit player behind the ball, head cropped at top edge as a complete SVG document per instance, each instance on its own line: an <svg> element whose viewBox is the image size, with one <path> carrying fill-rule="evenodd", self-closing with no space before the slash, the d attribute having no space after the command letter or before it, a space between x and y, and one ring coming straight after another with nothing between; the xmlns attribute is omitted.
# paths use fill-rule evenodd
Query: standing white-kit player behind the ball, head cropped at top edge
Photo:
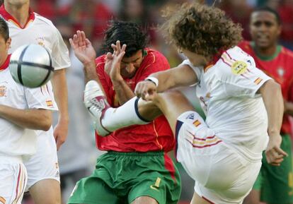
<svg viewBox="0 0 293 204"><path fill-rule="evenodd" d="M27 188L35 203L53 204L61 202L57 148L67 136L67 83L64 68L70 66L69 52L57 28L47 18L31 11L29 4L29 0L5 0L0 15L7 21L11 33L9 53L23 44L40 44L52 54L55 68L52 85L59 108L59 123L54 132L52 128L46 132L38 131L37 153L25 162L25 167L28 169Z"/></svg>

